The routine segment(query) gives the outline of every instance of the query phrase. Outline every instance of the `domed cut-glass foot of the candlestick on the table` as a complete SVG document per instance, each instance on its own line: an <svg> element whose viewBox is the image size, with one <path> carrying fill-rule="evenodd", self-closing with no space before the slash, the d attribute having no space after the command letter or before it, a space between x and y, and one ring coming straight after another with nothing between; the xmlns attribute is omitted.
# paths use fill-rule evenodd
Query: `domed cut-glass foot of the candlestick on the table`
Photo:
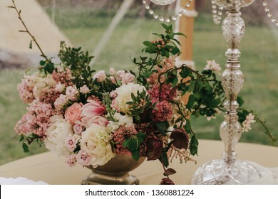
<svg viewBox="0 0 278 199"><path fill-rule="evenodd" d="M262 178L259 170L251 163L236 160L227 163L222 159L204 163L192 177L194 185L242 185Z"/></svg>

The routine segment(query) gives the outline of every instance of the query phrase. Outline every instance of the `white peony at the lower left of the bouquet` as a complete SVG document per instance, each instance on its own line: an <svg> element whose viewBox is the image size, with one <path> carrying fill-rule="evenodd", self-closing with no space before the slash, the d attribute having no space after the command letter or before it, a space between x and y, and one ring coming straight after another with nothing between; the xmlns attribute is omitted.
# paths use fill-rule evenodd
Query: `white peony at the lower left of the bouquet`
<svg viewBox="0 0 278 199"><path fill-rule="evenodd" d="M46 139L43 140L46 148L58 154L58 156L68 154L65 141L69 135L73 134L73 127L65 119L57 119L56 122L46 131Z"/></svg>

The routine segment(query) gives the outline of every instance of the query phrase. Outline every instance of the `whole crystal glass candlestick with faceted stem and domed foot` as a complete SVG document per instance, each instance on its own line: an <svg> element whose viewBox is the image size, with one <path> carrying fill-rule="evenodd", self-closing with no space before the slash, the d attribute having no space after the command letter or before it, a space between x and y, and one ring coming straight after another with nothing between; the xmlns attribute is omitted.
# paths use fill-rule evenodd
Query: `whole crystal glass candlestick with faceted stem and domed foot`
<svg viewBox="0 0 278 199"><path fill-rule="evenodd" d="M247 161L238 160L235 152L242 134L242 127L237 117L239 107L237 95L244 82L238 49L245 30L240 8L253 2L254 0L215 0L218 6L227 9L227 17L222 22L222 33L228 45L225 53L227 63L221 80L227 100L224 104L225 120L220 125L220 137L225 150L222 159L209 161L197 169L192 184L247 184L261 178L257 168Z"/></svg>

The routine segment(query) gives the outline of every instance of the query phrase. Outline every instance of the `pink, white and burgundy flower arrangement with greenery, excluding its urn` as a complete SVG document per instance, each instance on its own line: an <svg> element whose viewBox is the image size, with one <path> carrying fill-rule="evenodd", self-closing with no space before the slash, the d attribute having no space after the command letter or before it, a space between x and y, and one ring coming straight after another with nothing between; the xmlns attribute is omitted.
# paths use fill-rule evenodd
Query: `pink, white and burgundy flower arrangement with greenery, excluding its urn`
<svg viewBox="0 0 278 199"><path fill-rule="evenodd" d="M36 141L65 156L68 166L93 168L117 154L130 154L135 160L146 157L161 162L165 171L161 184L173 184L172 158L194 161L197 154L190 116L215 117L224 111L225 94L216 75L220 67L213 60L202 72L175 64L181 53L175 36L182 33L162 26L165 33L155 34L157 41L143 42L143 51L151 56L133 59L135 72L92 70L88 52L63 42L59 64L41 51L44 60L38 71L26 73L18 86L22 101L29 104L15 127L24 151ZM36 43L34 36L32 41ZM242 105L240 98L239 102ZM240 109L238 115L249 130L252 112Z"/></svg>

